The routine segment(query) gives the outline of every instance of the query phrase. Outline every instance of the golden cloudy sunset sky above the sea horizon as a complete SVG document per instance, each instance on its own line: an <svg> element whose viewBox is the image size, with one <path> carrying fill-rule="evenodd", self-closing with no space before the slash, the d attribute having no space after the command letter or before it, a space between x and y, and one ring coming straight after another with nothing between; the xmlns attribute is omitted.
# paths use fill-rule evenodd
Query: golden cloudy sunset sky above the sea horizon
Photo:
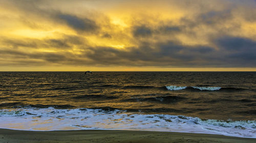
<svg viewBox="0 0 256 143"><path fill-rule="evenodd" d="M0 0L0 71L256 71L256 1Z"/></svg>

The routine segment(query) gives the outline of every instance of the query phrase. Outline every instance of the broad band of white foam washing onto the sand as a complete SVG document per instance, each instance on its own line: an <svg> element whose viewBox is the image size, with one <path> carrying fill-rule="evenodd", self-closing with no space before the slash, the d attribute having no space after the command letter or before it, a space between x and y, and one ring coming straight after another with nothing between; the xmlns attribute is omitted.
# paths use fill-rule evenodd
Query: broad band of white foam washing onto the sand
<svg viewBox="0 0 256 143"><path fill-rule="evenodd" d="M218 121L121 110L21 108L0 110L0 128L19 130L148 130L256 138L256 121Z"/></svg>

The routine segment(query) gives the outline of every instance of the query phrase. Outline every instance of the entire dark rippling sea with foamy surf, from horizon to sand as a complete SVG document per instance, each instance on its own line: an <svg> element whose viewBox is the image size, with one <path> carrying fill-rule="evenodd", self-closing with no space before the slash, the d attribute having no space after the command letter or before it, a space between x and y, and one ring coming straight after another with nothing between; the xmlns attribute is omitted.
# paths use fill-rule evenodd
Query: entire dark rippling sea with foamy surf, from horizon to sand
<svg viewBox="0 0 256 143"><path fill-rule="evenodd" d="M256 72L0 72L0 128L256 138Z"/></svg>

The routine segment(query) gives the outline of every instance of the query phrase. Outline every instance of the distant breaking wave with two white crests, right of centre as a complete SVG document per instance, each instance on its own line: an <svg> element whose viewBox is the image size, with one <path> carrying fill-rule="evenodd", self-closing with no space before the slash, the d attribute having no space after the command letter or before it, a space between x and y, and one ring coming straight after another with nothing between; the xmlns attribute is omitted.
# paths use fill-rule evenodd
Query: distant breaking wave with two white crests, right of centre
<svg viewBox="0 0 256 143"><path fill-rule="evenodd" d="M200 91L219 91L219 90L225 90L225 91L241 91L244 89L241 88L222 88L222 87L181 87L181 86L176 86L176 85L166 85L165 88L167 90L171 91L177 91L177 90L200 90Z"/></svg>

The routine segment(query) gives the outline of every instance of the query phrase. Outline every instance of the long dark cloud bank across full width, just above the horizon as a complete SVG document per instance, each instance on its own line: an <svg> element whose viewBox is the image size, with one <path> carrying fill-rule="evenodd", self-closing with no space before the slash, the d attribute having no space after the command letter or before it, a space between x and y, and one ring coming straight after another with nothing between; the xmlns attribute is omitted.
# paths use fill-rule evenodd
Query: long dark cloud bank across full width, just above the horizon
<svg viewBox="0 0 256 143"><path fill-rule="evenodd" d="M256 42L239 37L220 37L219 47L189 46L178 41L143 42L138 47L90 47L80 45L80 53L21 52L5 49L0 56L47 63L92 66L176 66L176 67L255 67ZM22 61L21 61L22 62ZM38 61L35 61L38 62Z"/></svg>

